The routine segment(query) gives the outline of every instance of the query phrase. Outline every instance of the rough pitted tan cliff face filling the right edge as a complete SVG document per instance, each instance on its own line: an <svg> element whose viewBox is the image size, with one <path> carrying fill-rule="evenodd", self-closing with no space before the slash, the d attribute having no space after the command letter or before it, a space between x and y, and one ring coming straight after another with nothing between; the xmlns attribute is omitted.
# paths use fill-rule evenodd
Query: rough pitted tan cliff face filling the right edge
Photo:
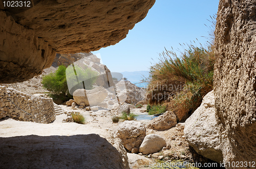
<svg viewBox="0 0 256 169"><path fill-rule="evenodd" d="M219 4L214 91L224 162L256 160L255 9L255 0Z"/></svg>

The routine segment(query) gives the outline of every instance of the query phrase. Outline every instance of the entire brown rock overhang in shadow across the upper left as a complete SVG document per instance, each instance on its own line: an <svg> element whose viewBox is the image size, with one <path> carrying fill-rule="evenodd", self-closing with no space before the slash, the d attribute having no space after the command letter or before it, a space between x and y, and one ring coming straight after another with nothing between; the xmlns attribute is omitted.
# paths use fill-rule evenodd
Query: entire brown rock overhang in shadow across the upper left
<svg viewBox="0 0 256 169"><path fill-rule="evenodd" d="M118 43L155 0L37 0L32 8L0 5L0 82L25 81L57 53L90 52Z"/></svg>

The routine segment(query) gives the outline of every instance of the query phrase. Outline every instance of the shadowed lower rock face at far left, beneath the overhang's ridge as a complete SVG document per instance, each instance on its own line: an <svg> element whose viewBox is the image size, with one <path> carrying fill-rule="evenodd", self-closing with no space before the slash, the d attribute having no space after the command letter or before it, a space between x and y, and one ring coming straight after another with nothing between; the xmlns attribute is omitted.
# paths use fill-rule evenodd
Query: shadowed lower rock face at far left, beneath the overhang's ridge
<svg viewBox="0 0 256 169"><path fill-rule="evenodd" d="M22 82L52 65L55 50L0 10L0 83Z"/></svg>

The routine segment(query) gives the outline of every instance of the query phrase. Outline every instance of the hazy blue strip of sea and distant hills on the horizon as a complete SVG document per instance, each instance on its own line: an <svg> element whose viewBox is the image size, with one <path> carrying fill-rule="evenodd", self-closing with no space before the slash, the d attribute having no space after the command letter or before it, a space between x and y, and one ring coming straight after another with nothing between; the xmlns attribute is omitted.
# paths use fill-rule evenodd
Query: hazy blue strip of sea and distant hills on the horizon
<svg viewBox="0 0 256 169"><path fill-rule="evenodd" d="M132 83L138 83L143 78L147 78L150 76L150 72L148 71L134 71L134 72L120 72L123 74L123 77L126 77L127 80L131 81ZM136 86L138 87L145 87L147 83L138 83Z"/></svg>

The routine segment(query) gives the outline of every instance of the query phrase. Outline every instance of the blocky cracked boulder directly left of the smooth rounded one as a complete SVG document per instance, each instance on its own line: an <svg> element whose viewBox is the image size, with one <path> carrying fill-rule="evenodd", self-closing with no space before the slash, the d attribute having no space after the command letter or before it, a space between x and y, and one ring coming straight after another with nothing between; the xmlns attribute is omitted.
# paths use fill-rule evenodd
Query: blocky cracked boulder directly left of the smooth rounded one
<svg viewBox="0 0 256 169"><path fill-rule="evenodd" d="M132 153L138 153L146 135L146 128L140 122L124 121L118 126L116 135L122 140L125 149Z"/></svg>

